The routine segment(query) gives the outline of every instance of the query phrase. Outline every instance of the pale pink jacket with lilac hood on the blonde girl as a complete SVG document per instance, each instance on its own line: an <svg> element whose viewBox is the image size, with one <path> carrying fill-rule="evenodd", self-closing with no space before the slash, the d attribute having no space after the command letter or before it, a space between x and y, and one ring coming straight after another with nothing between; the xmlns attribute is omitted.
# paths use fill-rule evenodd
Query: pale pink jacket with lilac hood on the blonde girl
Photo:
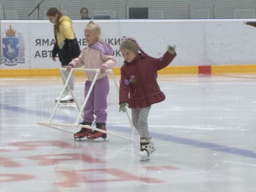
<svg viewBox="0 0 256 192"><path fill-rule="evenodd" d="M113 49L105 42L98 41L93 46L86 46L81 54L73 59L69 65L73 68L99 69L105 67L111 69L116 65L115 57L112 55ZM96 71L85 71L88 80L93 81ZM98 79L107 76L108 73L99 73Z"/></svg>

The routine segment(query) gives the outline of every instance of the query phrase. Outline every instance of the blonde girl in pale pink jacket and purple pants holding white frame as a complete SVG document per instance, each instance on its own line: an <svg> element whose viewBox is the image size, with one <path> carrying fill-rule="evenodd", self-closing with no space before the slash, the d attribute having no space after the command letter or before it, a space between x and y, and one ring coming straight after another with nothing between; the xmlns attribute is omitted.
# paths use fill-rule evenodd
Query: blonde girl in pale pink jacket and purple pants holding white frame
<svg viewBox="0 0 256 192"><path fill-rule="evenodd" d="M113 57L113 49L107 43L100 41L100 36L101 28L98 24L90 21L85 27L85 40L88 46L82 50L79 57L69 63L67 70L70 71L71 68L79 68L80 66L84 66L87 69L101 69L101 74L99 74L84 108L84 121L80 124L91 126L95 115L96 127L106 130L109 82L108 73L105 73L105 70L116 65L116 60ZM85 82L85 97L95 74L96 72L85 71L85 75L88 78ZM79 132L74 134L74 138L76 140L77 138L80 139L83 137L106 138L107 134L82 127Z"/></svg>

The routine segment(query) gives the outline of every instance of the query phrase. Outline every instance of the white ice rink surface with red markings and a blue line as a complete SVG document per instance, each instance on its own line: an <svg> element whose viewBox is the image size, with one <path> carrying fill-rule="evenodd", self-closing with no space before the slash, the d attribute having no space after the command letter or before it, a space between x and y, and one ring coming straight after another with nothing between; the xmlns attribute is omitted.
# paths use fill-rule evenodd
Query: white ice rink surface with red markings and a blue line
<svg viewBox="0 0 256 192"><path fill-rule="evenodd" d="M159 76L166 100L152 105L149 130L156 151L138 157L133 141L74 141L40 126L62 90L59 77L1 79L2 192L244 192L256 191L256 74ZM107 130L130 135L110 79ZM84 99L84 78L75 94ZM73 124L78 110L59 107L54 122ZM68 128L77 131L76 128Z"/></svg>

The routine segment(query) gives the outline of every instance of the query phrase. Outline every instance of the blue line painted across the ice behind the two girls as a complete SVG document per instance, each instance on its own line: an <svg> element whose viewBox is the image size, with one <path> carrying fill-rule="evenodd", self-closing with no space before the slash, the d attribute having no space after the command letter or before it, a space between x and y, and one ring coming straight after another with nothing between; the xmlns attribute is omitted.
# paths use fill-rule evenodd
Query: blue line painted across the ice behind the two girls
<svg viewBox="0 0 256 192"><path fill-rule="evenodd" d="M27 113L30 115L36 115L36 116L43 116L46 118L49 118L51 115L50 113L46 112L39 112L37 110L32 110L32 109L27 109L27 108L22 108L18 106L12 106L12 105L5 105L5 104L0 104L1 108L4 108L5 110L10 110L13 112L18 112L18 113ZM69 116L65 115L55 115L55 119L62 119L67 122L74 122L76 121L75 118L71 118ZM124 129L125 127L118 127L118 126L108 126L111 127L111 129L118 130L119 132L126 132L129 133L130 129ZM196 140L191 140L188 138L182 138L182 137L175 137L172 135L165 135L162 133L151 133L151 135L154 138L157 138L159 140L164 140L164 141L169 141L172 143L179 143L179 144L185 144L189 146L194 146L197 148L203 148L203 149L209 149L213 151L219 151L219 152L225 152L227 154L234 154L234 155L240 155L243 157L249 157L249 158L256 158L256 152L254 151L249 151L246 149L239 149L239 148L232 148L229 146L224 146L221 144L215 144L215 143L208 143L208 142L203 142L203 141L196 141Z"/></svg>

